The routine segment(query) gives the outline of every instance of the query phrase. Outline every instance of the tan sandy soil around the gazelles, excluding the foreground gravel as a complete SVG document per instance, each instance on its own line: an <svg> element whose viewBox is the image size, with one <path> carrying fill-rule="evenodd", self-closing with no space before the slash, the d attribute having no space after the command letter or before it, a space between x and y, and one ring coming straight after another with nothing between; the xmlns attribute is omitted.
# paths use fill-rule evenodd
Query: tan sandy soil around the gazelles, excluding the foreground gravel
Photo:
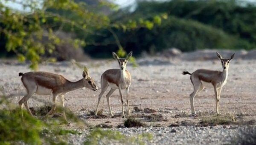
<svg viewBox="0 0 256 145"><path fill-rule="evenodd" d="M221 62L214 61L169 61L162 58L143 58L137 60L139 67L129 65L127 70L132 75L132 84L129 93L131 108L151 108L162 114L167 121L148 122L148 125L168 126L177 122L198 123L204 117L214 115L215 97L213 87L206 86L198 96L195 97L195 110L203 115L199 117L190 116L189 94L192 93L192 84L189 75L181 75L182 71L193 72L196 69L204 68L221 70ZM231 114L236 119L251 120L256 118L256 60L234 60L230 64L227 84L224 86L220 99L220 113ZM98 125L110 121L108 125L113 127L121 124L124 119L120 116L110 118L105 95L102 97L100 109L107 118L96 119L87 116L88 110L95 110L98 95L100 93L100 76L108 69L118 68L114 60L92 60L81 63L89 68L89 73L99 87L97 92L87 88L75 90L68 93L65 104L70 110L86 119L90 125ZM27 64L0 60L0 87L6 95L16 94L10 100L16 103L25 93L23 84L18 76L19 72L30 71ZM39 71L48 71L64 75L70 81L82 78L82 70L73 66L70 62L55 64L42 64ZM38 96L45 101L51 101L51 96ZM115 114L121 113L121 101L119 92L116 90L111 96L111 107ZM35 99L29 100L29 107L42 105ZM136 114L136 113L132 113ZM204 115L205 114L205 115ZM241 117L242 116L242 117Z"/></svg>

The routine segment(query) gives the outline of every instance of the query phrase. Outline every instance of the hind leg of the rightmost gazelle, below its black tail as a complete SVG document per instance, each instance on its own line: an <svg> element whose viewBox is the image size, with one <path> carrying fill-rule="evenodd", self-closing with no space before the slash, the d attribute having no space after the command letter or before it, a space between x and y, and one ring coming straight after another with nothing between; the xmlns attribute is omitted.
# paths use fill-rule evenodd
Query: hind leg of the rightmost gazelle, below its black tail
<svg viewBox="0 0 256 145"><path fill-rule="evenodd" d="M191 106L191 113L192 115L195 115L195 107L194 107L194 98L200 92L201 90L204 89L203 84L201 83L199 78L193 78L191 76L191 82L194 87L194 91L190 94L189 99L190 99L190 106Z"/></svg>

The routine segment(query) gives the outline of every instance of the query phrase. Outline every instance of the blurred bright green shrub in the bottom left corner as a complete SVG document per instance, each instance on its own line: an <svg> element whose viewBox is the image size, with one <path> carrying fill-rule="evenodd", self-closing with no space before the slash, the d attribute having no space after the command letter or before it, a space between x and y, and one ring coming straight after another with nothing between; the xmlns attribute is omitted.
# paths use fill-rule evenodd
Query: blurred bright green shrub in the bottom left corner
<svg viewBox="0 0 256 145"><path fill-rule="evenodd" d="M23 141L28 144L41 144L40 131L44 123L30 116L26 110L0 110L0 144Z"/></svg>

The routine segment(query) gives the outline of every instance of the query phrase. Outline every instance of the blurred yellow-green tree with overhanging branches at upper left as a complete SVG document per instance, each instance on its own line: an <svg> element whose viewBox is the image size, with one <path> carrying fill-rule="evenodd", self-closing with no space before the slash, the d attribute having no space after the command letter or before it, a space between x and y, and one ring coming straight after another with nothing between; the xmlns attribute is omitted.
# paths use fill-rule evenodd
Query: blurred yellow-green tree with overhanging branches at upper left
<svg viewBox="0 0 256 145"><path fill-rule="evenodd" d="M46 52L52 53L58 44L69 41L77 48L84 46L87 42L90 43L91 40L86 39L86 36L88 34L95 35L94 30L96 29L137 27L134 23L133 25L130 23L112 23L107 14L99 12L102 6L116 9L116 5L113 3L101 0L97 1L98 5L90 6L87 4L90 2L93 1L1 0L1 45L8 52L14 52L19 61L30 61L30 67L36 69L38 62L45 61L41 56ZM15 10L15 6L20 6L23 11ZM148 27L147 25L144 24L145 27ZM61 31L72 32L75 36L70 40L60 39ZM124 51L122 46L118 45L118 47ZM48 60L54 61L55 58Z"/></svg>

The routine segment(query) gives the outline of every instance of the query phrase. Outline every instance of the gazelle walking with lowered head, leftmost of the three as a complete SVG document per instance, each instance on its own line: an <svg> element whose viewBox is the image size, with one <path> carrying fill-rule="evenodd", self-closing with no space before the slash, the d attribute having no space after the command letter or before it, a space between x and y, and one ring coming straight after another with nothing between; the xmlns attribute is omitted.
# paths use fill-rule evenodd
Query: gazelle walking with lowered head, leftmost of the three
<svg viewBox="0 0 256 145"><path fill-rule="evenodd" d="M52 95L53 107L47 113L46 116L54 113L56 109L56 99L58 96L61 96L62 107L64 107L64 95L72 90L76 90L82 87L87 87L91 90L98 90L93 78L90 78L88 71L84 68L83 78L76 82L71 82L64 78L62 75L48 73L48 72L28 72L28 73L19 73L21 77L21 81L24 87L27 90L27 94L19 101L19 105L21 109L23 108L23 104L28 110L29 114L33 116L31 113L27 101L32 95ZM64 119L67 121L65 111Z"/></svg>

